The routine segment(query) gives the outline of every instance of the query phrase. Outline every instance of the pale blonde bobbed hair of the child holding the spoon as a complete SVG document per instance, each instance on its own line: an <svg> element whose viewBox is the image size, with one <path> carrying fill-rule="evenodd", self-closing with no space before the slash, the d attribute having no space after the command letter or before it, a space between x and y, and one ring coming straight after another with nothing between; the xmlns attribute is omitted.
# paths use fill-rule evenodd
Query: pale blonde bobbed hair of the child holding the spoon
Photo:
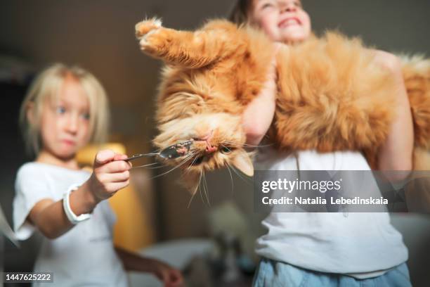
<svg viewBox="0 0 430 287"><path fill-rule="evenodd" d="M34 79L20 109L20 128L25 146L30 154L37 155L41 149L40 121L43 103L47 97L58 97L65 77L77 79L89 100L89 143L101 143L107 137L109 127L109 106L105 89L90 72L77 66L68 67L61 63L48 66ZM32 107L32 118L27 110Z"/></svg>

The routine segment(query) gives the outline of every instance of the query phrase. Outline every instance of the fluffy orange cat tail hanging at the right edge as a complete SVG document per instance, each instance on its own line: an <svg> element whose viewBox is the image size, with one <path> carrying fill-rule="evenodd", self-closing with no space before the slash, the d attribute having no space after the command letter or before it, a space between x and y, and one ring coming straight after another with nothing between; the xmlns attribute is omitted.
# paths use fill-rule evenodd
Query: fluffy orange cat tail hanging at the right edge
<svg viewBox="0 0 430 287"><path fill-rule="evenodd" d="M430 170L430 58L424 56L400 56L403 77L412 110L415 133L414 169ZM424 160L425 159L425 160Z"/></svg>

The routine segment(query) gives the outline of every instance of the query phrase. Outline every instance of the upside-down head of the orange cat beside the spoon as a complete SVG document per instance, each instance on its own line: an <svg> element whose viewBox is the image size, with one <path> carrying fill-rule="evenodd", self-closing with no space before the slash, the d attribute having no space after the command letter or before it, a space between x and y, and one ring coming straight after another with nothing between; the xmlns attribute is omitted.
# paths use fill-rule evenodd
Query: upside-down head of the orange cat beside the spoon
<svg viewBox="0 0 430 287"><path fill-rule="evenodd" d="M196 114L171 120L159 126L155 146L166 148L192 140L188 154L165 160L183 171L183 183L191 193L200 184L202 173L222 167L235 167L248 176L254 174L250 155L243 148L246 141L240 116L228 113Z"/></svg>

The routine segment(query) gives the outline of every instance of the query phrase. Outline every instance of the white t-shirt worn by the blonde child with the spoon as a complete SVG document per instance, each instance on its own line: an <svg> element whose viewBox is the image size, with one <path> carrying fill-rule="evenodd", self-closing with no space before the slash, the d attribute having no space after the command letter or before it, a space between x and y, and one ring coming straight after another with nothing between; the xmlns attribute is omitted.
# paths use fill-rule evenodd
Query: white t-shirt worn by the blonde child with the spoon
<svg viewBox="0 0 430 287"><path fill-rule="evenodd" d="M15 181L13 223L18 239L29 238L34 226L26 218L44 198L58 201L72 184L83 184L89 172L30 162L22 165ZM33 286L128 286L126 272L115 253L112 226L116 217L103 200L90 219L56 239L44 238L34 272L53 272L53 283Z"/></svg>

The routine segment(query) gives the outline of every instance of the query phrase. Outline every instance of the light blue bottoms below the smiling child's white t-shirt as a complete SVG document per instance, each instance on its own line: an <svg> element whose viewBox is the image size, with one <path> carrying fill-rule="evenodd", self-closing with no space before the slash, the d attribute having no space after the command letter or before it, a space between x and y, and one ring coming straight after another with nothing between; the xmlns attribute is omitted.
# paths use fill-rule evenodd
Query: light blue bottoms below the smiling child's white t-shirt
<svg viewBox="0 0 430 287"><path fill-rule="evenodd" d="M410 287L409 270L406 263L394 267L381 276L355 279L334 273L314 272L269 259L259 263L254 276L254 287Z"/></svg>

